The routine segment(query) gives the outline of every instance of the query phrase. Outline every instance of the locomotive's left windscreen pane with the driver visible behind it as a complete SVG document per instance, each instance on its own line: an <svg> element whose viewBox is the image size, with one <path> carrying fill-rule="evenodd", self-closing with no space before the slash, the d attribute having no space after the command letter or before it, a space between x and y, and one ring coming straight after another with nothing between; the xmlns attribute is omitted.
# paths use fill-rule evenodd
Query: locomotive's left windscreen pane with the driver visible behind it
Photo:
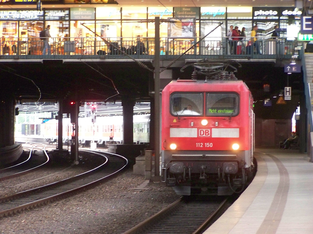
<svg viewBox="0 0 313 234"><path fill-rule="evenodd" d="M203 115L203 93L173 93L170 98L174 116Z"/></svg>

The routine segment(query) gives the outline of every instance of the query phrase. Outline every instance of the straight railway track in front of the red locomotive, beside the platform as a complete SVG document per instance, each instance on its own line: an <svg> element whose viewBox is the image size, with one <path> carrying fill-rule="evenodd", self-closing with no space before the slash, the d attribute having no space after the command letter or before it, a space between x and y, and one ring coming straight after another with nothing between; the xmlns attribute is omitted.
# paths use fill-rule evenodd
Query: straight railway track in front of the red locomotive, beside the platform
<svg viewBox="0 0 313 234"><path fill-rule="evenodd" d="M198 234L226 202L225 197L181 197L123 234Z"/></svg>

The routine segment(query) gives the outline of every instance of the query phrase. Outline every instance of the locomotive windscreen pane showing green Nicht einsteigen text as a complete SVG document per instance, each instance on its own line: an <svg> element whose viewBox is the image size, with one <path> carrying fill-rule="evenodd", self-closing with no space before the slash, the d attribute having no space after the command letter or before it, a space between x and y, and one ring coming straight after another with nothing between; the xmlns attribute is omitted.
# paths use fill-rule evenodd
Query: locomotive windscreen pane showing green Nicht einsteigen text
<svg viewBox="0 0 313 234"><path fill-rule="evenodd" d="M235 93L207 93L206 116L236 116L239 114L239 95Z"/></svg>

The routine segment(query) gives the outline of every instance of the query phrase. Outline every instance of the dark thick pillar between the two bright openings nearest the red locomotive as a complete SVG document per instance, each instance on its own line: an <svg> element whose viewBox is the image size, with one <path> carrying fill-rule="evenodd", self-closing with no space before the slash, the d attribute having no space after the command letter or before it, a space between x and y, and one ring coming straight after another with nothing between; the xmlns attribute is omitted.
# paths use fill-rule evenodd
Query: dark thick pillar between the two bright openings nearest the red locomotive
<svg viewBox="0 0 313 234"><path fill-rule="evenodd" d="M133 114L135 100L132 98L122 99L123 106L123 144L133 144Z"/></svg>

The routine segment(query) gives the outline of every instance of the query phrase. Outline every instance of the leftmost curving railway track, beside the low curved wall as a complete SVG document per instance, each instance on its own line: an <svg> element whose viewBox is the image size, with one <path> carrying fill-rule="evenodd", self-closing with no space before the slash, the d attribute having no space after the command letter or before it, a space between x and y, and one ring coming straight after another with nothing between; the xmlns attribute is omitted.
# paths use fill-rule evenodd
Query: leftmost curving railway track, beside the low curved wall
<svg viewBox="0 0 313 234"><path fill-rule="evenodd" d="M49 162L49 156L45 147L26 146L26 148L29 149L28 156L24 154L17 164L0 170L0 181L25 175L43 167ZM35 151L35 149L40 150Z"/></svg>

